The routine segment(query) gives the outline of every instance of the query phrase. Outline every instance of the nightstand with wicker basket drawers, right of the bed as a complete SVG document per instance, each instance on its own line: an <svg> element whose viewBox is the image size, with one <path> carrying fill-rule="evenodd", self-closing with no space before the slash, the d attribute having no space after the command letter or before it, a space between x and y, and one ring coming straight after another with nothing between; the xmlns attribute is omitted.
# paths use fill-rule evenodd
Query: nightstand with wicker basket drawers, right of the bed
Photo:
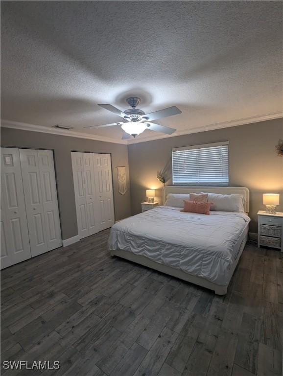
<svg viewBox="0 0 283 376"><path fill-rule="evenodd" d="M276 214L258 211L258 247L272 247L283 252L283 213Z"/></svg>

